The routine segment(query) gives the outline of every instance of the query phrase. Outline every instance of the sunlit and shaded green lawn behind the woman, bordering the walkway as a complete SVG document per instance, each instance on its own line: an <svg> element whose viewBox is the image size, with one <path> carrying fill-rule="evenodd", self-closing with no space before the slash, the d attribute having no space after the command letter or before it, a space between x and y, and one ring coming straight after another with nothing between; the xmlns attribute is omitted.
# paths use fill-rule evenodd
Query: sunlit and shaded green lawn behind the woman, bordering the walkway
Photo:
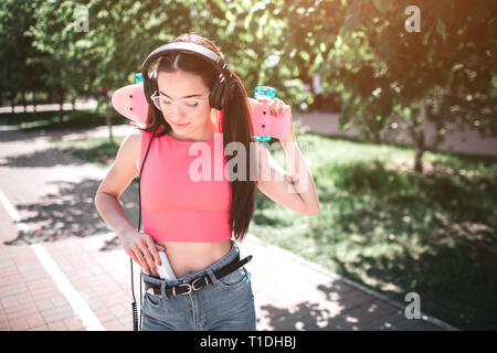
<svg viewBox="0 0 497 353"><path fill-rule="evenodd" d="M120 141L60 148L105 168ZM417 292L423 312L459 329L497 329L497 159L426 152L417 174L410 148L309 133L299 145L321 212L296 214L257 190L250 233L400 302Z"/></svg>

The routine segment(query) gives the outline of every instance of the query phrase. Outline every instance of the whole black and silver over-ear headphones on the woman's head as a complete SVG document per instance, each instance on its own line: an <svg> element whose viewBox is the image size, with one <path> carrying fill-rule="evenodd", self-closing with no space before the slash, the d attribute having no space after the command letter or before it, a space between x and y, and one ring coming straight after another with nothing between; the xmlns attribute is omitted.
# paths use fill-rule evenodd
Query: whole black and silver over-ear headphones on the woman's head
<svg viewBox="0 0 497 353"><path fill-rule="evenodd" d="M235 85L233 79L233 74L228 68L226 63L214 52L208 50L207 47L187 42L176 42L161 45L148 54L144 64L141 65L141 77L144 81L145 98L149 104L152 103L150 96L158 89L157 86L157 74L149 73L148 67L150 63L156 58L163 56L170 52L182 52L192 53L201 57L212 61L215 67L219 69L218 79L212 87L211 94L209 95L209 104L211 107L221 110L226 104L228 97L231 94L232 86Z"/></svg>

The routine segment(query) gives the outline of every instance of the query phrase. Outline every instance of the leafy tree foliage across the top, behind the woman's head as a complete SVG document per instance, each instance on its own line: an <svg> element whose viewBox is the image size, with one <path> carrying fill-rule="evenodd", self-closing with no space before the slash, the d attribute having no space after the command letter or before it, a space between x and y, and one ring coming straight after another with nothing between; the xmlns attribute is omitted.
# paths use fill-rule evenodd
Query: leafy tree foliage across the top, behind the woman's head
<svg viewBox="0 0 497 353"><path fill-rule="evenodd" d="M412 4L421 31L409 33ZM87 32L76 31L77 6L88 12ZM0 89L2 97L34 90L59 100L105 94L133 83L151 50L194 31L218 45L251 96L271 85L295 110L341 96L342 129L355 126L362 138L381 141L401 116L424 150L424 119L436 124L437 142L448 124L497 135L496 7L493 0L6 0Z"/></svg>

